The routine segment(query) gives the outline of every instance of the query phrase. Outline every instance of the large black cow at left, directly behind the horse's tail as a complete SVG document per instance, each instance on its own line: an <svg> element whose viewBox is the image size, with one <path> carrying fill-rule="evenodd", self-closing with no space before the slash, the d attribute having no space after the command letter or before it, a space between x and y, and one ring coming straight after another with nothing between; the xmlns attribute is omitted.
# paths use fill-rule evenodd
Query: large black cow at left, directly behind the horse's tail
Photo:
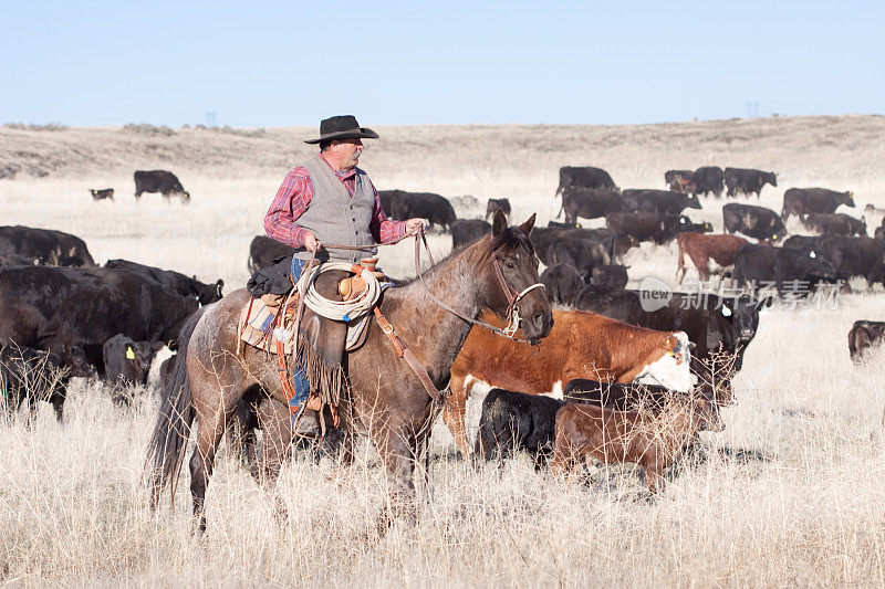
<svg viewBox="0 0 885 589"><path fill-rule="evenodd" d="M0 341L62 355L79 346L103 372L105 341L124 334L175 348L198 304L136 272L11 266L0 269Z"/></svg>

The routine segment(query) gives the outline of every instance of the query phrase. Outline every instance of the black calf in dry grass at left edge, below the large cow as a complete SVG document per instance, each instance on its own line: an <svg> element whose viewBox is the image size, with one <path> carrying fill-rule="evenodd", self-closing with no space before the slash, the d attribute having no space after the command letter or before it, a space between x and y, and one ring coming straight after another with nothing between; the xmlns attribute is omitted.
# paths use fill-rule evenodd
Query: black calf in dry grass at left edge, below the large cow
<svg viewBox="0 0 885 589"><path fill-rule="evenodd" d="M49 402L62 420L62 406L72 377L90 377L95 370L81 348L65 355L0 343L0 399L11 417L28 400L30 417L40 400ZM3 404L0 402L0 404Z"/></svg>

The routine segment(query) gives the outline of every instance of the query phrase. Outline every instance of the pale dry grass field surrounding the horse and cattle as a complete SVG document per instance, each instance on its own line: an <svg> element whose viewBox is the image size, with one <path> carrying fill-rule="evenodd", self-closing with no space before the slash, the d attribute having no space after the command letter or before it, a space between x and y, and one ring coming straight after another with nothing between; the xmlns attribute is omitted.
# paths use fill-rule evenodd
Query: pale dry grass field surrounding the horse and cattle
<svg viewBox="0 0 885 589"><path fill-rule="evenodd" d="M516 221L538 212L545 224L558 212L564 165L606 168L622 188L664 188L669 168L754 167L778 172L778 187L761 198L778 211L785 189L809 186L853 190L858 208L847 212L857 217L868 202L885 207L885 117L376 130L382 140L367 141L361 165L378 188L477 197L480 208L456 207L465 217L506 196ZM282 177L312 152L302 139L313 133L0 127L0 170L19 169L0 179L0 224L69 231L98 263L125 257L222 277L230 292L248 278L249 242ZM192 202L145 194L136 203L133 170L156 168L175 171ZM107 187L113 202L86 191ZM721 204L708 199L688 212L721 230ZM445 254L449 236L433 235L431 246ZM410 275L410 248L383 250L382 264ZM675 246L645 244L625 262L634 283L670 280ZM209 532L195 537L187 475L175 507L165 501L156 514L140 484L156 375L125 410L101 382L75 379L64 423L43 406L30 430L23 414L0 424L0 581L882 587L885 355L855 367L845 336L855 319L885 318L884 304L876 288L842 296L836 309L764 311L736 380L738 402L723 411L726 430L704 433L700 457L654 501L627 469L586 486L535 474L525 457L502 473L473 471L437 424L433 499L417 523L398 523L376 544L363 535L385 481L365 442L337 476L327 459L294 456L278 485L285 520L222 455L207 494ZM473 428L480 399L468 414Z"/></svg>

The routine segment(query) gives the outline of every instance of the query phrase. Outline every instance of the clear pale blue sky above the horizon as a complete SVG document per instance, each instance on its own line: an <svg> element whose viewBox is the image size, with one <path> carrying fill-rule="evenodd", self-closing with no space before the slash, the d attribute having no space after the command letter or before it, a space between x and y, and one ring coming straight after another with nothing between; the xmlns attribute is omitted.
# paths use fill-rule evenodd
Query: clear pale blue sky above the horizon
<svg viewBox="0 0 885 589"><path fill-rule="evenodd" d="M873 1L0 0L0 123L883 113L883 22Z"/></svg>

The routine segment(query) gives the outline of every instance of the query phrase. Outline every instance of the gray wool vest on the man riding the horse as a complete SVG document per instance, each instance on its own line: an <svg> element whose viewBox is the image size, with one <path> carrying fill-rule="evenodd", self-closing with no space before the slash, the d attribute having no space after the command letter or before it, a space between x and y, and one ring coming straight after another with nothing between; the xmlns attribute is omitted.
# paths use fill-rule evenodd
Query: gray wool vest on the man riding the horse
<svg viewBox="0 0 885 589"><path fill-rule="evenodd" d="M313 198L308 210L295 222L310 230L324 244L366 246L361 250L323 249L316 253L316 259L323 262L357 262L376 254L378 249L368 231L375 210L375 193L366 172L356 168L355 190L351 198L335 172L319 155L302 166L311 173ZM295 250L295 257L310 260L311 252L303 248Z"/></svg>

